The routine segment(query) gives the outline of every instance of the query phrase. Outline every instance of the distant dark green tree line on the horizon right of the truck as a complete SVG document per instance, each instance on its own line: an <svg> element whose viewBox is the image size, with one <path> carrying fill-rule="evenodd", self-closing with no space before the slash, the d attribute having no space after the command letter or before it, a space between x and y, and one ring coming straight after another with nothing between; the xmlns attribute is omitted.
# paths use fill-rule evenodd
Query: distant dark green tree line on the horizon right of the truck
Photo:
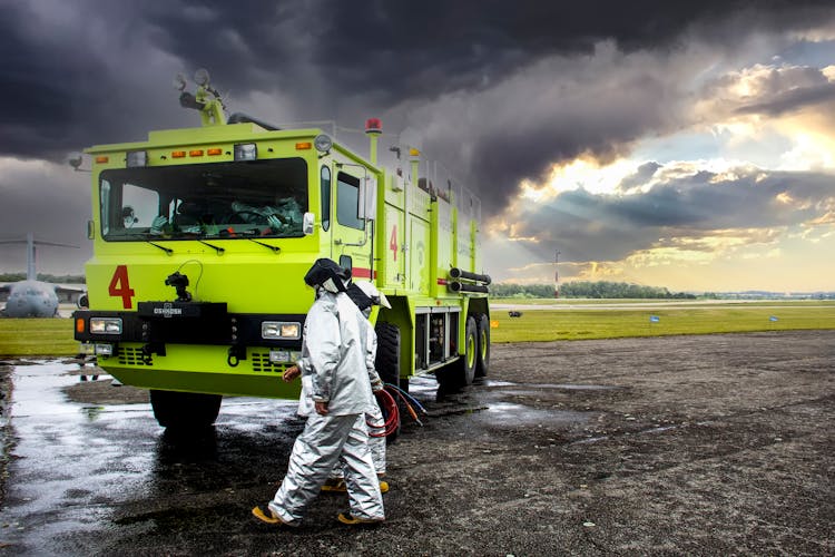
<svg viewBox="0 0 835 557"><path fill-rule="evenodd" d="M492 297L553 297L553 284L491 284ZM695 294L625 282L569 282L560 284L560 297L696 300Z"/></svg>

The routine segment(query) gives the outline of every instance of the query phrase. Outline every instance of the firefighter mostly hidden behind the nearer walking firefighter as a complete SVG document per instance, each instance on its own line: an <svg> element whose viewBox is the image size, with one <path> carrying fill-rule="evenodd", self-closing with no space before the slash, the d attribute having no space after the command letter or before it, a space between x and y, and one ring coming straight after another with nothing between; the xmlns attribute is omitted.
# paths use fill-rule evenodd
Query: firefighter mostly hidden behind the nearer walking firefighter
<svg viewBox="0 0 835 557"><path fill-rule="evenodd" d="M360 309L362 314L365 316L364 330L367 336L367 349L366 349L366 365L369 369L369 380L371 381L371 390L373 392L383 390L383 381L380 379L375 368L374 360L377 353L377 335L374 332L374 326L369 321L371 316L371 307L373 305L381 305L391 310L391 304L385 297L385 294L380 292L376 286L370 282L358 282L348 285L347 295L354 301L356 306ZM302 392L304 397L304 389ZM303 402L299 402L299 411L302 410ZM372 401L369 411L365 413L365 423L369 426L369 448L371 449L371 457L374 461L374 469L377 472L380 480L380 491L385 494L389 491L389 482L382 478L385 476L385 419L383 412L380 409L376 400ZM324 486L323 491L345 491L345 480L342 467L336 467L331 473Z"/></svg>

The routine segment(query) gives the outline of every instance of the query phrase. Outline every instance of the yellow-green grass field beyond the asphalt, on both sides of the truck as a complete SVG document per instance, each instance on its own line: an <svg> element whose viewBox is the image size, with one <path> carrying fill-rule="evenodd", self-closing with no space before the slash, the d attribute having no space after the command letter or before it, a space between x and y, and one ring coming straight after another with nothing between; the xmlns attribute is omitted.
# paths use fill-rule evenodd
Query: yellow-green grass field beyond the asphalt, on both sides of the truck
<svg viewBox="0 0 835 557"><path fill-rule="evenodd" d="M667 304L658 307L629 307L652 301L560 301L564 309L539 310L527 301L521 317L510 317L497 307L515 300L497 300L492 310L492 342L615 339L666 334L708 334L798 329L835 329L835 302L749 302L709 304ZM606 303L618 306L595 307ZM553 300L540 304L553 304ZM620 306L626 304L627 306ZM572 309L572 305L583 305ZM658 317L651 322L650 316ZM69 319L0 320L0 356L53 355L78 353Z"/></svg>

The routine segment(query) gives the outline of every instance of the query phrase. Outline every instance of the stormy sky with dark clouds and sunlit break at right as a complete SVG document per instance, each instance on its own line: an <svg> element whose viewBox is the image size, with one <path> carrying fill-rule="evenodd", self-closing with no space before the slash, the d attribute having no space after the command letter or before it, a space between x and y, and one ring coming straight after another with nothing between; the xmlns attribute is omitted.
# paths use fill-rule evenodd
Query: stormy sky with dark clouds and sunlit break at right
<svg viewBox="0 0 835 557"><path fill-rule="evenodd" d="M79 246L40 272L91 255L70 154L197 125L170 84L207 68L230 113L379 117L450 168L495 282L835 291L831 1L0 4L0 240Z"/></svg>

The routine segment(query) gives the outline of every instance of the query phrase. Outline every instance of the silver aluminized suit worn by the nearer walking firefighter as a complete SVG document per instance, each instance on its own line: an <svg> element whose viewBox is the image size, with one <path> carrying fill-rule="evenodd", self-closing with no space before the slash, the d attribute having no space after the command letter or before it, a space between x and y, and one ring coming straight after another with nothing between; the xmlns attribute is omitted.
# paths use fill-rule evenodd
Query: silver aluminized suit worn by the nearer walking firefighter
<svg viewBox="0 0 835 557"><path fill-rule="evenodd" d="M269 509L285 522L298 524L340 457L351 515L385 518L365 426L372 393L364 321L347 295L324 290L307 314L302 359L296 364L303 379L310 377L313 400L327 402L328 413L310 414L293 446L284 481L269 501Z"/></svg>

